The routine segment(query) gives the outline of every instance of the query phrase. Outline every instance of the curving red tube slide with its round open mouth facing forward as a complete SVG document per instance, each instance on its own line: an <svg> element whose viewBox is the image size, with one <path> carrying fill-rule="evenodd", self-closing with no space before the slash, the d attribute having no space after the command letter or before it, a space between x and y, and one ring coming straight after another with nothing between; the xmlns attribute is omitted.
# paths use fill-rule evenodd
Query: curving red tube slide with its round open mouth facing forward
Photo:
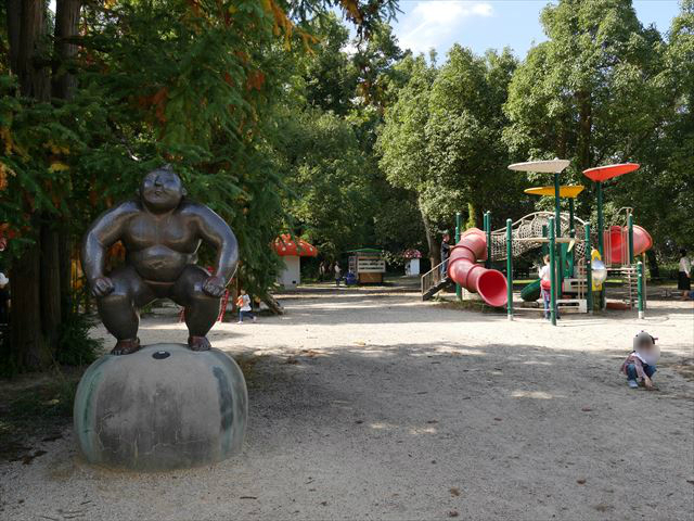
<svg viewBox="0 0 694 521"><path fill-rule="evenodd" d="M506 278L501 271L476 264L477 259L487 259L487 238L479 228L471 228L451 251L448 277L467 291L479 293L490 306L504 306L507 300Z"/></svg>

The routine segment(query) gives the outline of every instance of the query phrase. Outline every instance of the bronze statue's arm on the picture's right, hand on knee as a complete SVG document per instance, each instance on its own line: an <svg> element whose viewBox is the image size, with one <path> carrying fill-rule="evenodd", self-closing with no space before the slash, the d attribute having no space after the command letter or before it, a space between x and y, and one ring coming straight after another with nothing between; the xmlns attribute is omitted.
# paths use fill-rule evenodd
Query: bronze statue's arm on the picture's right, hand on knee
<svg viewBox="0 0 694 521"><path fill-rule="evenodd" d="M217 250L215 277L222 279L227 285L236 270L239 263L239 242L229 225L207 206L195 204L193 213L197 220L197 229L202 239Z"/></svg>

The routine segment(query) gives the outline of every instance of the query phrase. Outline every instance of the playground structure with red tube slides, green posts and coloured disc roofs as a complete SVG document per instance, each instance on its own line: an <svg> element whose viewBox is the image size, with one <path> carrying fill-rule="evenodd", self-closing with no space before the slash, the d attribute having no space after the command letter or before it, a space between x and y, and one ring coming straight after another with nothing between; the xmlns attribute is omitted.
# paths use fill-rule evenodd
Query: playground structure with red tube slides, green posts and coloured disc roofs
<svg viewBox="0 0 694 521"><path fill-rule="evenodd" d="M579 313L592 313L593 291L599 291L601 308L605 307L605 291L601 285L607 274L618 276L626 289L622 305L638 305L639 317L645 308L645 278L643 263L634 260L653 245L648 232L633 224L632 208L621 208L615 221L604 226L602 182L606 179L634 171L639 165L624 163L591 168L584 175L596 182L597 227L591 231L590 224L575 216L575 199L584 189L581 185L560 186L560 174L568 166L566 160L516 163L509 168L518 171L553 174L554 185L526 190L534 195L553 195L554 212L535 212L513 223L506 220L501 229L491 229L491 214L485 214L484 231L476 228L457 237L447 269L444 263L422 277L422 297L430 298L438 291L455 282L460 288L479 293L489 305L506 304L509 319L513 319L513 257L547 244L551 257L551 315L556 323L558 307ZM568 212L562 212L561 199L568 199ZM460 223L460 216L457 216ZM460 227L457 228L457 236ZM597 256L593 256L592 244L597 244ZM506 260L506 276L489 269L494 262ZM485 262L485 267L476 264ZM445 277L448 275L448 277ZM597 282L596 285L593 284ZM505 290L505 297L503 295ZM537 301L540 281L534 281L522 291L524 301ZM459 293L460 298L460 293Z"/></svg>

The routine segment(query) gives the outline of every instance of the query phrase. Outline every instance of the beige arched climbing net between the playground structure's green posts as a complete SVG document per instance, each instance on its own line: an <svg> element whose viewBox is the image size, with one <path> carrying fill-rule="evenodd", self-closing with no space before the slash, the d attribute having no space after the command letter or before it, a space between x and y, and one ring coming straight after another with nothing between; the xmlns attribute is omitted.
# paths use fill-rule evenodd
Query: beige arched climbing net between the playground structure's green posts
<svg viewBox="0 0 694 521"><path fill-rule="evenodd" d="M512 251L516 257L525 252L534 250L547 242L547 237L542 234L543 228L545 233L549 230L550 217L554 217L554 212L535 212L516 220L512 226ZM560 215L562 223L562 237L569 237L569 214L562 213ZM574 231L576 243L574 251L576 258L583 258L586 255L586 221L574 217ZM591 238L592 241L592 238ZM503 260L506 258L506 229L501 228L491 232L491 258L493 260Z"/></svg>

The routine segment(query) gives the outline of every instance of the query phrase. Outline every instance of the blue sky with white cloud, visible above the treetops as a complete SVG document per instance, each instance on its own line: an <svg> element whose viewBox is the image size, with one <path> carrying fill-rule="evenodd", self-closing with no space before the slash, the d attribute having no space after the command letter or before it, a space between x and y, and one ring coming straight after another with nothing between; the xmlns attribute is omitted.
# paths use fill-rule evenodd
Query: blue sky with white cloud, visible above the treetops
<svg viewBox="0 0 694 521"><path fill-rule="evenodd" d="M397 21L391 21L400 47L415 52L436 49L439 60L458 42L476 53L509 46L524 58L532 43L545 39L539 22L549 0L400 0ZM663 34L679 12L677 0L634 0L645 26L655 24Z"/></svg>

